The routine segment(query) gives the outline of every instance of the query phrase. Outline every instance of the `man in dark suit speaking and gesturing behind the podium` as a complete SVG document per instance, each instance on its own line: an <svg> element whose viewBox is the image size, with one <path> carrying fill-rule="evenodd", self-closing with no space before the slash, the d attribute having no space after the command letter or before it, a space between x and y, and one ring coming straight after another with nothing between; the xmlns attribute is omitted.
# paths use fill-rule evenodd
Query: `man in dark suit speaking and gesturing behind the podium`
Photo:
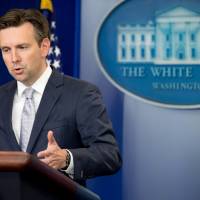
<svg viewBox="0 0 200 200"><path fill-rule="evenodd" d="M48 22L37 10L14 9L0 17L0 48L15 79L0 87L0 150L34 154L85 184L115 173L121 157L98 88L48 66L49 38ZM26 109L32 103L34 114L24 108L28 99Z"/></svg>

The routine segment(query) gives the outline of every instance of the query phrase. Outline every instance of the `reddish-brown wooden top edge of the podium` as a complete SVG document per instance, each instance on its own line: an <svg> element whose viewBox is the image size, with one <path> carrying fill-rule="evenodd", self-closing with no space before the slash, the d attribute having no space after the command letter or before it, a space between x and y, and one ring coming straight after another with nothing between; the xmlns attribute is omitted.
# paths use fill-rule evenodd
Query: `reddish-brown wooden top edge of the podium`
<svg viewBox="0 0 200 200"><path fill-rule="evenodd" d="M0 151L0 172L19 172L32 176L37 174L75 194L76 199L100 200L95 193L25 152Z"/></svg>

